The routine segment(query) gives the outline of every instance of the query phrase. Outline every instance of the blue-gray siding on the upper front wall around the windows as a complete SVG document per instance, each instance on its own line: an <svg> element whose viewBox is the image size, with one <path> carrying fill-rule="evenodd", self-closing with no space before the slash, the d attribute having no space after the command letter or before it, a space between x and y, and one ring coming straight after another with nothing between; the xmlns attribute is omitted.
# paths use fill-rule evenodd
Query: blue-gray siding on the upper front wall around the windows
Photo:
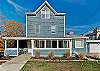
<svg viewBox="0 0 100 71"><path fill-rule="evenodd" d="M36 25L40 25L40 33L36 33ZM51 25L56 25L56 34L51 34ZM55 16L50 11L50 19L41 19L39 11L36 16L27 16L27 27L28 37L64 37L64 16Z"/></svg>

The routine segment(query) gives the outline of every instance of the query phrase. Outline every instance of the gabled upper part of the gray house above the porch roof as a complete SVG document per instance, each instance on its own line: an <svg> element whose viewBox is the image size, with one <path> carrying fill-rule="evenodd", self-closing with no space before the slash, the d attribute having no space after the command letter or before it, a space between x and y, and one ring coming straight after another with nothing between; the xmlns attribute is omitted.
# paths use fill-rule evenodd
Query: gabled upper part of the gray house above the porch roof
<svg viewBox="0 0 100 71"><path fill-rule="evenodd" d="M26 36L61 38L65 36L65 13L57 13L45 1L35 12L26 13Z"/></svg>

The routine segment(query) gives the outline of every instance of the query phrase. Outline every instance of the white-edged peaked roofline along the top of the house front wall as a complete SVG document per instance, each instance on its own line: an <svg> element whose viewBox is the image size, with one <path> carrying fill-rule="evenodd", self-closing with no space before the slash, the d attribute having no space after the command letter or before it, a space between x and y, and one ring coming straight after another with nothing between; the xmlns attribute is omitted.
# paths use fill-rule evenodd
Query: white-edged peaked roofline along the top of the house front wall
<svg viewBox="0 0 100 71"><path fill-rule="evenodd" d="M66 14L66 13L57 13L47 1L45 1L35 12L26 12L26 14L33 14L33 15L34 15L34 14L37 14L45 5L48 6L49 9L50 9L55 15L65 15L65 14Z"/></svg>

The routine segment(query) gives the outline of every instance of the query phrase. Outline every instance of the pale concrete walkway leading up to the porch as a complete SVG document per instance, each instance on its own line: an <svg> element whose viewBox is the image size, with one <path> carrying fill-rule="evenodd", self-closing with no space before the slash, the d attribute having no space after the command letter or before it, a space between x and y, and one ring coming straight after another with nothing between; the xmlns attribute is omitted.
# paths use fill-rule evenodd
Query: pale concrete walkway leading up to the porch
<svg viewBox="0 0 100 71"><path fill-rule="evenodd" d="M30 54L22 54L2 64L0 71L20 71L24 64L31 58Z"/></svg>

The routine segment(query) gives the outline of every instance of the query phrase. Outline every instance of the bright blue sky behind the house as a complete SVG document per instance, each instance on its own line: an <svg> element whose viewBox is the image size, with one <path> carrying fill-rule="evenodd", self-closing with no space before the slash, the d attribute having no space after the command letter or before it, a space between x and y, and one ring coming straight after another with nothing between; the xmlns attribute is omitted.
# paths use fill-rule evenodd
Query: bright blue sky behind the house
<svg viewBox="0 0 100 71"><path fill-rule="evenodd" d="M25 12L35 11L45 0L0 0L1 19L16 20L25 26ZM100 26L100 0L47 0L66 13L66 32L84 34Z"/></svg>

